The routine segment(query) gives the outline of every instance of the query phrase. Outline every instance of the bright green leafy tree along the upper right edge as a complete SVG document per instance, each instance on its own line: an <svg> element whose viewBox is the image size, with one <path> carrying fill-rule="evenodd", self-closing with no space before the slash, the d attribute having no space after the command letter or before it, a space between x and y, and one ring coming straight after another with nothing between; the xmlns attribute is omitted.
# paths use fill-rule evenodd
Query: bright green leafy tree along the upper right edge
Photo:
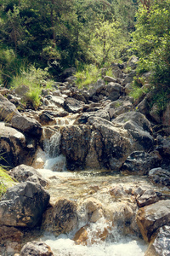
<svg viewBox="0 0 170 256"><path fill-rule="evenodd" d="M140 7L133 49L140 57L138 73L150 70L150 83L160 110L166 108L170 84L170 0L155 0L150 8Z"/></svg>

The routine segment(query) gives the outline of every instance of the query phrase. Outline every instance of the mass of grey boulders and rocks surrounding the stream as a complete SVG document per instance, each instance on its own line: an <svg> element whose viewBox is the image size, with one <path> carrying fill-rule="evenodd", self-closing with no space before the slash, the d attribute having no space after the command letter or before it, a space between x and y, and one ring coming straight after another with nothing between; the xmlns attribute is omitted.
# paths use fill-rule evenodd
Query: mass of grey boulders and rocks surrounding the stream
<svg viewBox="0 0 170 256"><path fill-rule="evenodd" d="M26 228L42 225L42 230L48 230L51 225L50 230L59 235L70 231L77 224L77 206L65 199L49 205L48 192L42 188L48 182L31 167L38 166L37 154L44 150L44 141L50 140L57 132L60 134L60 143L57 148L51 148L49 154L53 154L53 157L65 155L68 170L90 168L146 175L151 182L166 187L168 191L170 105L159 116L154 106L149 108L152 101L150 92L134 101L128 92L135 70L125 74L123 65L114 64L112 68L114 78L104 75L88 90L78 90L74 77L65 79L63 83L55 83L53 90L42 90L42 105L37 110L21 104L22 91L26 89L24 85L20 90L0 88L0 154L13 168L11 176L20 182L8 189L0 201L0 241L2 252L8 252L4 255L20 252ZM144 86L149 86L149 75L144 74ZM22 107L20 111L16 108L18 106ZM161 127L159 131L158 127ZM4 164L3 159L1 164ZM110 194L115 196L119 193L117 189L112 188ZM119 190L124 195L124 189ZM169 239L169 194L159 193L150 188L139 188L136 192L131 189L127 193L133 196L137 212L134 214L134 210L128 208L127 219L131 219L133 226L136 218L138 225L134 230L139 229L144 240L151 241L146 255L150 255L150 250L155 252L152 255L161 255L163 250L169 252L169 248L161 245L160 238L163 236ZM95 222L105 214L100 202L93 201L91 204L95 206L92 207L94 210L89 210L91 218L97 210L98 217L94 216L92 219L95 220L91 220ZM69 209L69 215L63 219L66 209ZM59 222L54 224L53 218L59 219ZM56 230L57 226L59 229ZM82 231L80 234L82 236ZM9 243L12 243L12 250L8 249ZM36 242L27 246L37 251L40 247L46 247ZM44 255L52 255L48 247L46 250ZM38 253L31 255L41 255ZM26 246L20 255L27 255Z"/></svg>

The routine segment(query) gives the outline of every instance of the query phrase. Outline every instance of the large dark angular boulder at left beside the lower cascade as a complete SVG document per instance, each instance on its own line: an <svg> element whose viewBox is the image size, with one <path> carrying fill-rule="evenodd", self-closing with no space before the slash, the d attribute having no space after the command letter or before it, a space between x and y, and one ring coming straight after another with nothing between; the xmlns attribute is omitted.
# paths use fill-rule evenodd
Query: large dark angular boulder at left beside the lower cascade
<svg viewBox="0 0 170 256"><path fill-rule="evenodd" d="M34 227L42 219L49 195L37 183L20 183L9 188L0 201L0 224Z"/></svg>

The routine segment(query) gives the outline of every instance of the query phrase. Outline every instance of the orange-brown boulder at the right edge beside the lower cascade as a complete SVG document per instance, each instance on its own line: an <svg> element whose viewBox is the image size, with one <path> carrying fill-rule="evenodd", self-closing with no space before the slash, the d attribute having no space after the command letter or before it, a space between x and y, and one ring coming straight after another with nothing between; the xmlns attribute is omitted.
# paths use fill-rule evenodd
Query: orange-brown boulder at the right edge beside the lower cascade
<svg viewBox="0 0 170 256"><path fill-rule="evenodd" d="M170 223L169 209L170 200L161 200L139 209L136 219L144 241L150 241L156 230Z"/></svg>

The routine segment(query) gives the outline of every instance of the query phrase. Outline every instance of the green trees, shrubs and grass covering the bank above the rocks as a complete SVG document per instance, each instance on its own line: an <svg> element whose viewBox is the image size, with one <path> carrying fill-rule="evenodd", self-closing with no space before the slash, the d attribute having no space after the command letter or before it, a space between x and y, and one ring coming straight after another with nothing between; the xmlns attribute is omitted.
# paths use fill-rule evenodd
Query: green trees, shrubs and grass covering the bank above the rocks
<svg viewBox="0 0 170 256"><path fill-rule="evenodd" d="M77 86L101 78L101 68L139 57L133 95L149 72L153 103L170 95L170 0L0 0L0 84L26 85L24 104L77 68ZM128 67L127 67L128 68ZM130 70L129 70L130 71ZM128 72L128 71L127 71ZM141 89L142 88L142 89Z"/></svg>

